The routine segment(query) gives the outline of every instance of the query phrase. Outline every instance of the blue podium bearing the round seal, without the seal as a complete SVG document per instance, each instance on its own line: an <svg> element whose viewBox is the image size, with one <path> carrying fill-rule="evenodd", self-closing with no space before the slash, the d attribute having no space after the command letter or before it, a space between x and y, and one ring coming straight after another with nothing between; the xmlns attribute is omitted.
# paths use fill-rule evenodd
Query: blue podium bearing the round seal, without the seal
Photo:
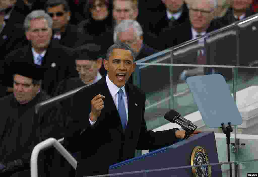
<svg viewBox="0 0 258 177"><path fill-rule="evenodd" d="M179 141L171 146L111 165L109 168L109 174L188 166L191 165L192 151L197 146L201 146L203 149L205 149L209 163L219 162L214 132L205 131L186 140ZM192 175L192 168L147 173L147 177ZM144 173L123 175L123 177L128 176L142 177L146 175ZM222 176L220 165L211 167L211 176Z"/></svg>

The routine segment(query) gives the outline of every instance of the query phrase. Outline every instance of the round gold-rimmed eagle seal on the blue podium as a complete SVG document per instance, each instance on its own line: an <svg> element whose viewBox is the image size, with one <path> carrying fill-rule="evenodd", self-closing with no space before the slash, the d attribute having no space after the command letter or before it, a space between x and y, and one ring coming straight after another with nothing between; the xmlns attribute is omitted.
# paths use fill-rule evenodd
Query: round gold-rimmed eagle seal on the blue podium
<svg viewBox="0 0 258 177"><path fill-rule="evenodd" d="M209 163L208 155L202 146L193 148L191 154L191 165L202 165ZM211 166L193 167L192 173L194 177L211 177Z"/></svg>

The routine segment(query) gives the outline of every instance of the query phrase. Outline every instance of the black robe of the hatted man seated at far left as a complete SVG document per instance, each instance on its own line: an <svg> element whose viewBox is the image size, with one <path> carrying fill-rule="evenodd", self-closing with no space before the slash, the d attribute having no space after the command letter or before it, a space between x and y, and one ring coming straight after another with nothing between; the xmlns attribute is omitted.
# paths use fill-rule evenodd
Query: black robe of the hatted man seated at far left
<svg viewBox="0 0 258 177"><path fill-rule="evenodd" d="M35 113L35 105L47 99L50 99L50 96L42 91L25 105L19 104L13 94L0 99L3 109L3 116L0 119L1 162L7 163L20 158L25 164L24 167L16 169L7 176L29 176L33 148L49 137L58 139L63 136L64 126L61 124L63 117L60 116L59 104L43 108L40 114ZM56 150L52 149L39 153L39 176L50 175L49 168L53 166L51 154L54 151Z"/></svg>

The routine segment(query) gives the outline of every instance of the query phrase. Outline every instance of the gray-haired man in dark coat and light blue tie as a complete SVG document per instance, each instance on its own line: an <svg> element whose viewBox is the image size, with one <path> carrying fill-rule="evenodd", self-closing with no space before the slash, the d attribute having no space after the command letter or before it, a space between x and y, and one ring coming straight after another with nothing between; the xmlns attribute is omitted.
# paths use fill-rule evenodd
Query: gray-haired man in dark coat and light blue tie
<svg viewBox="0 0 258 177"><path fill-rule="evenodd" d="M63 79L75 76L72 49L52 42L52 18L43 10L32 11L24 21L24 28L28 46L11 52L5 59L4 82L9 92L12 92L9 68L12 64L30 62L47 68L42 82L42 89L52 95L57 84ZM26 68L24 68L26 69Z"/></svg>

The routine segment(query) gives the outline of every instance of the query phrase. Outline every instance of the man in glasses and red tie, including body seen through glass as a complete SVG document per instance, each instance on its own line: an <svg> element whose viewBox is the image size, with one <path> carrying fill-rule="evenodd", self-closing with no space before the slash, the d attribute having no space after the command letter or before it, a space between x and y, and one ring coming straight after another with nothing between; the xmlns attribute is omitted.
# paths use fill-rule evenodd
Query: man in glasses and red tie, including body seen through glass
<svg viewBox="0 0 258 177"><path fill-rule="evenodd" d="M199 0L187 2L189 8L189 20L176 27L165 29L160 34L160 44L164 44L162 50L179 45L183 42L197 39L204 36L206 33L222 28L223 25L218 19L214 19L214 10L217 6L215 0ZM200 38L196 43L199 49L188 50L187 53L176 55L174 57L174 63L176 64L198 64L207 65L210 61L207 60L204 47L204 38ZM206 71L204 67L175 67L173 70L173 82L180 83L185 82L185 79L189 76L203 75L207 73L214 73L214 69ZM176 87L176 84L175 84ZM176 90L176 88L174 89Z"/></svg>

